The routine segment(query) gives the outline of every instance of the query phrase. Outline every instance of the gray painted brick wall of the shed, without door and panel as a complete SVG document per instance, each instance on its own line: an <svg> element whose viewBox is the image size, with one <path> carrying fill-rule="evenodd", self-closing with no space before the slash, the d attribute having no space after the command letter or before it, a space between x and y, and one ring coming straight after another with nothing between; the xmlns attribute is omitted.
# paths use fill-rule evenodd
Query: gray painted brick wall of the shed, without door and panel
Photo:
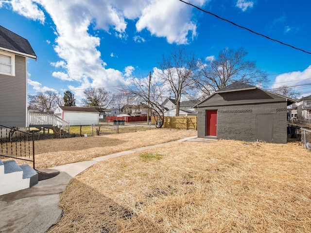
<svg viewBox="0 0 311 233"><path fill-rule="evenodd" d="M206 110L217 110L217 138L257 141L256 116L271 114L272 142L287 142L287 103L259 103L198 108L198 137L206 136Z"/></svg>

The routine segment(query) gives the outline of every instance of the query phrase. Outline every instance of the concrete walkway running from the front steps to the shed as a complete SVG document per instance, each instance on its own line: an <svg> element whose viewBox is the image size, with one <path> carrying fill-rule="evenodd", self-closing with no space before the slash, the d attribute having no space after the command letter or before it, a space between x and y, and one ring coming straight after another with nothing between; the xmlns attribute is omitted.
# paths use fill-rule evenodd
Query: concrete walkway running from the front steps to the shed
<svg viewBox="0 0 311 233"><path fill-rule="evenodd" d="M0 233L46 232L62 216L62 210L58 207L60 193L65 191L73 177L97 162L172 143L197 141L196 138L196 136L187 137L173 142L109 154L91 161L51 167L59 170L59 175L39 181L31 188L0 196Z"/></svg>

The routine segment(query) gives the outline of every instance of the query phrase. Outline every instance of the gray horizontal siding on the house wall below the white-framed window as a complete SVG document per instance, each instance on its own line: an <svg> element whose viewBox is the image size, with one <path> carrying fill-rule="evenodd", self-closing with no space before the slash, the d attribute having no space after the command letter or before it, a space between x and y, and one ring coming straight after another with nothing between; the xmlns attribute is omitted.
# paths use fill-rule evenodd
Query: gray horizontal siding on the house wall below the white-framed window
<svg viewBox="0 0 311 233"><path fill-rule="evenodd" d="M15 76L0 74L0 124L26 126L26 57L15 55Z"/></svg>

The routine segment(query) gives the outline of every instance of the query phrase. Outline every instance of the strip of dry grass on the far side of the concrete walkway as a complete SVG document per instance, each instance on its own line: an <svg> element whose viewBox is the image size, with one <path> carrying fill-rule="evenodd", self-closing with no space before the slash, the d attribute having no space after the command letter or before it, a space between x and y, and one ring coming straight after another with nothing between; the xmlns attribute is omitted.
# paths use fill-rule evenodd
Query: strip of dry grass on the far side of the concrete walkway
<svg viewBox="0 0 311 233"><path fill-rule="evenodd" d="M195 135L197 132L190 130L155 129L104 136L40 140L35 141L35 167L41 169L86 161L111 153Z"/></svg>

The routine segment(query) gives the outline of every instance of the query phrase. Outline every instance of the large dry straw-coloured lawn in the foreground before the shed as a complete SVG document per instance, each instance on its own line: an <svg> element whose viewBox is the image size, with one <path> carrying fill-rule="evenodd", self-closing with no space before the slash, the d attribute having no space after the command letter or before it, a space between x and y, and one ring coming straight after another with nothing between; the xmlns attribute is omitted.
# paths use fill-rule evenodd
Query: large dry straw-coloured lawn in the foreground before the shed
<svg viewBox="0 0 311 233"><path fill-rule="evenodd" d="M62 193L49 233L311 232L311 152L182 142L98 163Z"/></svg>

